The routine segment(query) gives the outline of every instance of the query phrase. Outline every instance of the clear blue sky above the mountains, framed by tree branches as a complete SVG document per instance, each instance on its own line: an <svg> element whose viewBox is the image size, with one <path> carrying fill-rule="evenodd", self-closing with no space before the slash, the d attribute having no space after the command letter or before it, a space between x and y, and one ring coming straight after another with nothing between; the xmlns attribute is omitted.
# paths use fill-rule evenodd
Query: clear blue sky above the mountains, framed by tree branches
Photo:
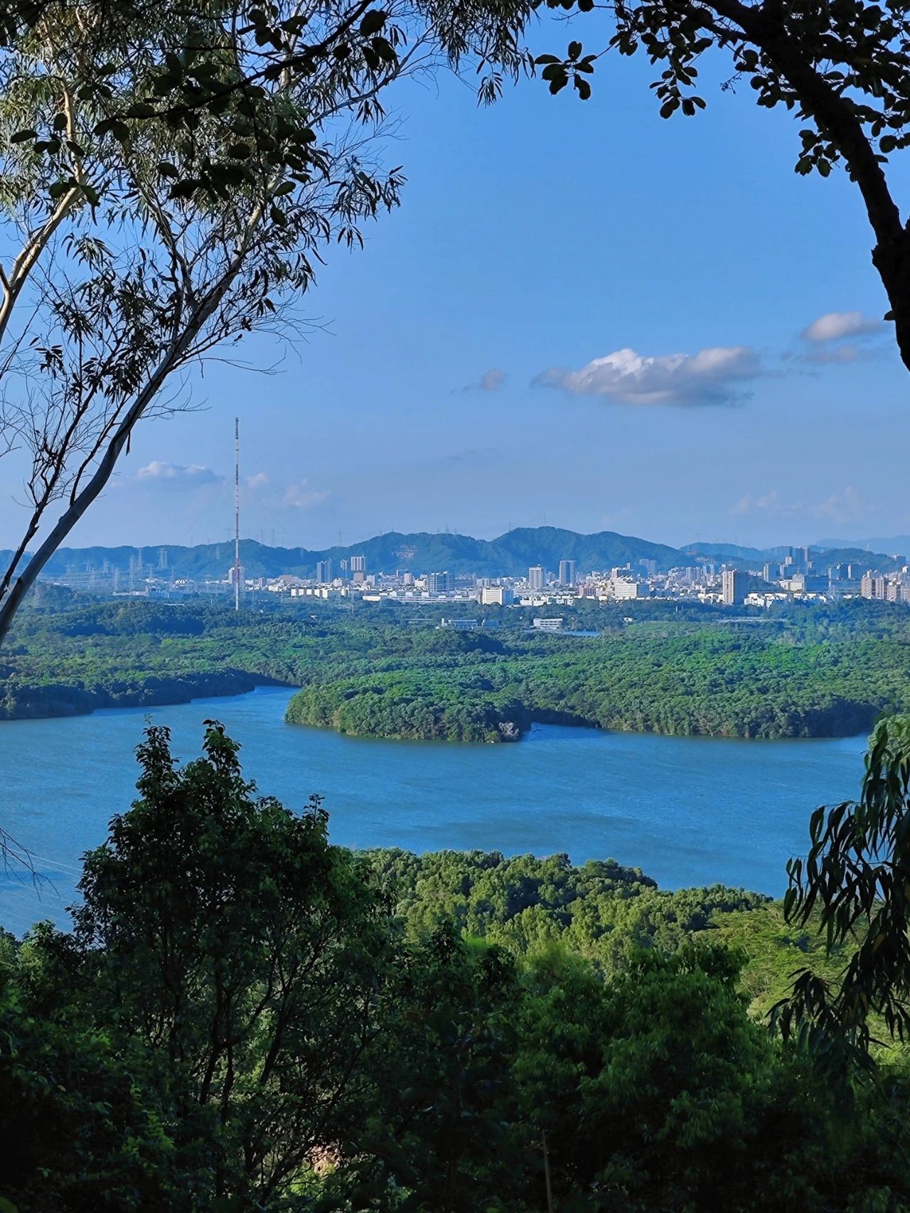
<svg viewBox="0 0 910 1213"><path fill-rule="evenodd" d="M272 376L210 366L204 408L137 434L74 542L223 539L235 414L244 530L267 542L910 530L910 380L875 329L859 195L797 177L797 124L724 74L671 121L644 61L598 69L587 103L408 84L404 205L331 254L307 303L325 329Z"/></svg>

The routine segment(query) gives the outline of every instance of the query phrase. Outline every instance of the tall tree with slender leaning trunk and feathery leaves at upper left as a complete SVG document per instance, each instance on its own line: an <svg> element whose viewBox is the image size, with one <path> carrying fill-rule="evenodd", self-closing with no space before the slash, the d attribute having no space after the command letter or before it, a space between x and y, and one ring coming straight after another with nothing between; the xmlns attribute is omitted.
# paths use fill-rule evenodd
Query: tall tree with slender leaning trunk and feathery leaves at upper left
<svg viewBox="0 0 910 1213"><path fill-rule="evenodd" d="M292 340L326 247L398 204L385 90L517 58L516 15L476 0L17 12L0 22L0 230L18 249L0 267L0 454L19 452L25 512L0 639L136 425L215 349Z"/></svg>

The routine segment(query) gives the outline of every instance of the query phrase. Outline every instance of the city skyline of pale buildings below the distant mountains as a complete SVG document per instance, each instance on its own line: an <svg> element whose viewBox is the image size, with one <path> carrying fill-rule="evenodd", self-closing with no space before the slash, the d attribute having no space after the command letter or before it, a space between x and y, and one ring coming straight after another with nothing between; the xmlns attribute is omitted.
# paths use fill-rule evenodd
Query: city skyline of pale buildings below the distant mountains
<svg viewBox="0 0 910 1213"><path fill-rule="evenodd" d="M220 558L221 545L214 547ZM267 592L266 597L277 594L279 598L302 599L305 603L322 600L335 602L339 605L342 600L348 600L352 608L354 599L363 603L386 600L403 606L421 606L427 603L459 605L476 603L480 606L502 608L570 606L579 600L607 603L644 599L698 600L703 604L724 606L745 604L763 608L798 599L807 603L824 603L843 598L910 604L910 565L906 563L906 556L893 553L882 557L875 553L869 554L866 560L861 559L866 553L860 552L860 558L854 556L852 559L843 559L848 556L843 551L824 551L808 545L797 548L787 546L779 552L777 559L766 560L761 569L755 568L753 559L749 562L739 557L739 563L732 564L707 553L673 552L672 548L666 548L661 569L656 558L643 557L614 565L609 573L605 568L588 568L579 573L578 562L567 557L554 562L558 565L557 570L545 564L534 564L527 568L527 574L497 571L485 576L476 571L465 573L463 569L460 573L451 573L449 569L430 571L417 568L413 564L415 549L406 553L399 549L394 553L411 560L411 568L397 568L394 573L388 569L368 571L368 557L363 553L349 553L337 558L326 553L307 553L317 557L314 576L311 576L303 568L297 568L296 573L291 571L297 553L289 553L281 548L271 549L273 554L291 556L291 564L285 565L281 573L263 574L260 562L260 573L249 576L249 570L240 563L239 541L227 576L212 576L211 569L206 573L203 568L197 568L190 574L188 568L182 568L186 562L181 559L180 549L174 552L177 560L171 564L171 553L166 547L158 549L157 564L154 549L149 553L152 557L149 560L146 559L144 548L126 549L129 574L121 576L124 570L118 557L125 554L124 549L116 554L112 549L96 549L96 557L99 551L109 552L114 559L106 554L101 568L89 559L84 568L80 569L78 565L68 568L66 574L51 576L49 580L91 594L102 597L113 594L120 598L195 598L199 594L218 596L233 591L235 610L239 610L241 604L255 600L256 593L261 591ZM693 563L689 565L671 563L667 566L666 553L690 559ZM250 554L256 558L256 553L249 552L248 541L248 556ZM303 554L300 551L298 557L302 558ZM252 599L246 598L250 592ZM456 627L476 627L478 621L461 617L450 620L449 623ZM547 628L561 627L562 620L534 620L534 626L539 625ZM440 626L447 626L445 619Z"/></svg>

